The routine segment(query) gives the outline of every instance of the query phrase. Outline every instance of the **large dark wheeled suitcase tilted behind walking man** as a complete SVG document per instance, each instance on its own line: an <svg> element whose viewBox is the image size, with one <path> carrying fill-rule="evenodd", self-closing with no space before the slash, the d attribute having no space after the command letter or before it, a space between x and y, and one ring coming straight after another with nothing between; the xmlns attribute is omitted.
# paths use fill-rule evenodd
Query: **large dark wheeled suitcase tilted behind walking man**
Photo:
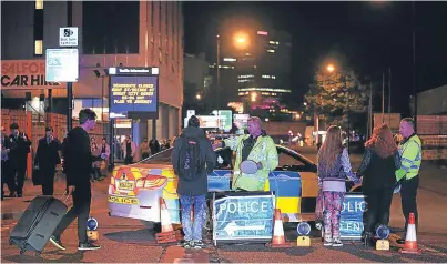
<svg viewBox="0 0 447 264"><path fill-rule="evenodd" d="M16 244L20 254L33 251L40 255L65 213L67 205L61 200L37 196L12 230L9 243Z"/></svg>

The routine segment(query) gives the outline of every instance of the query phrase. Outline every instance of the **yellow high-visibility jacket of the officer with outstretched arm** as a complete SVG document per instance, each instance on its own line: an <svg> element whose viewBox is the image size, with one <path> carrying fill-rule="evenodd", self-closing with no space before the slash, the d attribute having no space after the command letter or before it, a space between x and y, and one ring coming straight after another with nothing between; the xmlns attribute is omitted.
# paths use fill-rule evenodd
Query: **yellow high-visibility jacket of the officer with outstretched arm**
<svg viewBox="0 0 447 264"><path fill-rule="evenodd" d="M233 190L243 189L246 191L264 191L265 182L268 179L268 173L274 171L278 164L275 142L268 135L258 136L247 160L256 163L261 162L262 169L255 175L242 173L240 165L242 162L242 149L244 140L250 135L240 135L224 140L225 146L236 151L236 161L234 162L233 171Z"/></svg>

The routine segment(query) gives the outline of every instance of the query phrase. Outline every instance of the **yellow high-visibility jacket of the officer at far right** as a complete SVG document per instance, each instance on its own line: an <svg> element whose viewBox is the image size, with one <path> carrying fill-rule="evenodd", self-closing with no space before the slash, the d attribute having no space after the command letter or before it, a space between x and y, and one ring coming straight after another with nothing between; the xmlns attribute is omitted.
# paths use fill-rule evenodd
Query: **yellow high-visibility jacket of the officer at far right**
<svg viewBox="0 0 447 264"><path fill-rule="evenodd" d="M423 161L423 149L419 136L413 134L399 144L400 169L396 171L396 180L409 180L419 174Z"/></svg>

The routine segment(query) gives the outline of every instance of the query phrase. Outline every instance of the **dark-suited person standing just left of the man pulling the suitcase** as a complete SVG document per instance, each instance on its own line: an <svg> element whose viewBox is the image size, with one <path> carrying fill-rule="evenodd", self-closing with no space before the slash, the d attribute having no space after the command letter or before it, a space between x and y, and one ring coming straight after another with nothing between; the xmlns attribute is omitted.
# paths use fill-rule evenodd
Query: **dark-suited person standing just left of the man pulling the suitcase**
<svg viewBox="0 0 447 264"><path fill-rule="evenodd" d="M45 136L39 140L34 158L34 166L39 167L39 176L42 180L43 195L53 195L55 166L61 163L60 149L61 143L53 136L53 129L45 128Z"/></svg>

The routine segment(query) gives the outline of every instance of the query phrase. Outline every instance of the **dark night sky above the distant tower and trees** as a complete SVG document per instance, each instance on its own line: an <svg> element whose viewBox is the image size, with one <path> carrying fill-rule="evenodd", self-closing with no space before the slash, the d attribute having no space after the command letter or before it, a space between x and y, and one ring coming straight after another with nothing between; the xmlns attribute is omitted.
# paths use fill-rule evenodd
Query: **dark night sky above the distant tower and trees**
<svg viewBox="0 0 447 264"><path fill-rule="evenodd" d="M297 104L329 52L348 59L382 91L392 69L392 111L409 114L413 89L413 2L184 2L185 52L214 62L217 29L227 20L265 24L293 37L292 90ZM447 2L416 2L417 90L447 84ZM251 26L252 27L252 26ZM254 30L262 30L254 29ZM387 82L387 81L386 81ZM379 111L380 98L375 98Z"/></svg>

